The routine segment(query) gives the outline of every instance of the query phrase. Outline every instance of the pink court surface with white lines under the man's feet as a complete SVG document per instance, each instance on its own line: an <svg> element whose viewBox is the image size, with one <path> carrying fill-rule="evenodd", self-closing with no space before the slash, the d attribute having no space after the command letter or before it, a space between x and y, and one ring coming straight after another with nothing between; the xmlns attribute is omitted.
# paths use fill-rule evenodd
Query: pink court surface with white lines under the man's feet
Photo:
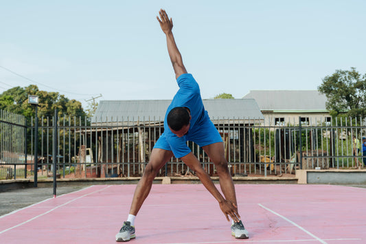
<svg viewBox="0 0 366 244"><path fill-rule="evenodd" d="M0 243L115 243L135 185L91 186L0 217ZM129 243L366 243L366 189L236 185L250 239L201 184L153 185Z"/></svg>

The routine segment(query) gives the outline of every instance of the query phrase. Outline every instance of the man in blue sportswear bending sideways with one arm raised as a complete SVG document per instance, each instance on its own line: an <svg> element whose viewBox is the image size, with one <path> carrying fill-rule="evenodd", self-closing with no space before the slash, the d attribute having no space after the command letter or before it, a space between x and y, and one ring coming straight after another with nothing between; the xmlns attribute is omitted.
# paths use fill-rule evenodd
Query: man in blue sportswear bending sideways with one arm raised
<svg viewBox="0 0 366 244"><path fill-rule="evenodd" d="M172 19L168 18L165 10L160 10L159 15L160 18L157 16L157 20L166 36L168 53L174 68L176 82L179 85L179 91L166 111L164 133L152 148L150 161L136 186L128 219L116 234L115 239L116 241L129 241L136 237L135 217L137 212L139 212L142 203L148 197L152 181L157 172L173 155L176 158L181 158L190 169L196 172L203 186L218 201L218 205L225 214L227 221L229 221L229 217L231 218L231 235L237 239L247 239L249 238L248 232L245 230L242 221L240 221L236 192L227 167L224 144L220 133L209 120L209 115L203 107L200 89L196 80L194 80L192 74L187 74L187 70L183 65L181 53L176 47L172 33ZM196 156L188 148L187 141L195 142L198 146L201 146L211 161L214 162L224 197L222 197L206 171L203 170Z"/></svg>

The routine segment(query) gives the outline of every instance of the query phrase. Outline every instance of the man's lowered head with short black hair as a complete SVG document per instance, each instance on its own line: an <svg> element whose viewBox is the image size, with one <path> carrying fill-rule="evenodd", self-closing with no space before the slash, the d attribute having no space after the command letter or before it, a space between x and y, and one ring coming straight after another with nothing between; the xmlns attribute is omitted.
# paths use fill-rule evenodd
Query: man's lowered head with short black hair
<svg viewBox="0 0 366 244"><path fill-rule="evenodd" d="M175 107L170 110L166 122L172 133L178 137L185 135L190 129L191 115L185 107Z"/></svg>

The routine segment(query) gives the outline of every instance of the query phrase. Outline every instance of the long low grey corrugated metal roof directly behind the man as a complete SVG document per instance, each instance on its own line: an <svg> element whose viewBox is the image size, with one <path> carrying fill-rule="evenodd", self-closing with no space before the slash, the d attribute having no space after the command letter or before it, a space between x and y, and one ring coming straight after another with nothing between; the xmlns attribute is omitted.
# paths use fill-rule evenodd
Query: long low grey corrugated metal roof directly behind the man
<svg viewBox="0 0 366 244"><path fill-rule="evenodd" d="M91 122L137 120L163 121L172 100L104 100L100 101ZM210 118L242 118L262 120L263 115L253 99L203 100Z"/></svg>

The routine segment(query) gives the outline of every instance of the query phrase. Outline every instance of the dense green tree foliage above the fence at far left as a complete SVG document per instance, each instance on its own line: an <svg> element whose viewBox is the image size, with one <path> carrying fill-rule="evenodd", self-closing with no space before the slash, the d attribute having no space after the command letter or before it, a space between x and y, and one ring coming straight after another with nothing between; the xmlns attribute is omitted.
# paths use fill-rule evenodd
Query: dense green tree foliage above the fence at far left
<svg viewBox="0 0 366 244"><path fill-rule="evenodd" d="M0 94L0 109L25 115L25 118L30 119L34 116L35 108L28 104L28 95L39 97L38 118L52 117L55 109L58 109L59 115L86 115L81 102L69 100L58 92L41 91L36 85L13 87L4 91Z"/></svg>

